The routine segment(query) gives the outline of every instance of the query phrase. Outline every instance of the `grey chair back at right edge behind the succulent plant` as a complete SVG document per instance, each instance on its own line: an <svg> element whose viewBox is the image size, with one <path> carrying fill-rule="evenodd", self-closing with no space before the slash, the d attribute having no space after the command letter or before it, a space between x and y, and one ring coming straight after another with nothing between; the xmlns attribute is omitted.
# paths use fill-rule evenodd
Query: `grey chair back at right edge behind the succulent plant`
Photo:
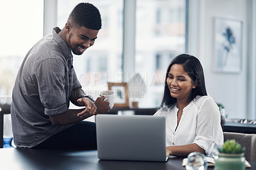
<svg viewBox="0 0 256 170"><path fill-rule="evenodd" d="M256 134L241 134L235 132L223 132L224 141L235 139L245 148L244 157L248 161L256 161Z"/></svg>

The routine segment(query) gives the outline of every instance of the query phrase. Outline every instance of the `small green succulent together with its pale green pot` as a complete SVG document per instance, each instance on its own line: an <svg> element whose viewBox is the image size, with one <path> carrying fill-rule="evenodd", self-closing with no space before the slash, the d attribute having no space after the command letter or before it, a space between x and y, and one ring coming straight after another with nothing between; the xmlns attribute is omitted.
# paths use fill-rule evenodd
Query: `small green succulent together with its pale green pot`
<svg viewBox="0 0 256 170"><path fill-rule="evenodd" d="M225 141L222 148L218 148L218 151L218 156L215 158L215 170L245 169L245 148L242 148L241 144L237 143L234 139Z"/></svg>

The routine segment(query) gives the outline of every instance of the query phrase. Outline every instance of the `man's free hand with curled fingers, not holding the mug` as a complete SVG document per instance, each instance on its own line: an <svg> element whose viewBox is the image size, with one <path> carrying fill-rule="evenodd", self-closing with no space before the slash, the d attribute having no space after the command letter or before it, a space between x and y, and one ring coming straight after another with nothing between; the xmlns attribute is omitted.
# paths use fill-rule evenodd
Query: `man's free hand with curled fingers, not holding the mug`
<svg viewBox="0 0 256 170"><path fill-rule="evenodd" d="M93 104L93 102L92 102L92 100L90 100L90 98L87 98L87 97L79 98L79 99L77 99L77 103L79 105L84 105L86 107L84 109L84 111L79 112L77 114L77 116L79 116L81 118L84 118L85 116L89 117L88 114L90 116L93 116L96 113L96 111L97 111L96 105Z"/></svg>

